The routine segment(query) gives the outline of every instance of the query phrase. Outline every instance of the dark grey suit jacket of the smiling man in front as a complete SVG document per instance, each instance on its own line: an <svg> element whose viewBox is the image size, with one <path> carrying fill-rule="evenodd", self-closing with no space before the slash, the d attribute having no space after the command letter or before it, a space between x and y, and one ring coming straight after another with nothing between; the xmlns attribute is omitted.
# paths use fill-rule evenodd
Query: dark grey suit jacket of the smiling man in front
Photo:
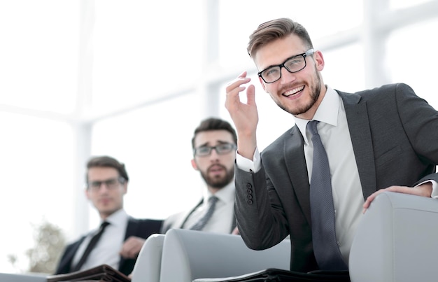
<svg viewBox="0 0 438 282"><path fill-rule="evenodd" d="M390 185L435 180L438 113L408 85L384 85L344 103L364 199ZM295 126L261 153L262 169L236 168L236 219L249 248L264 249L290 235L290 269L318 269L313 255L309 178L304 141Z"/></svg>

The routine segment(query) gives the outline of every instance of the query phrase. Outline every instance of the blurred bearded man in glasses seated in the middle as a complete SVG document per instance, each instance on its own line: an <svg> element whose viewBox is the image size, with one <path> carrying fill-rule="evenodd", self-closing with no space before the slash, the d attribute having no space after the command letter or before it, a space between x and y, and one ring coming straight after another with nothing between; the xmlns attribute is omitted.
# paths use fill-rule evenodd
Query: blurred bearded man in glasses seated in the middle
<svg viewBox="0 0 438 282"><path fill-rule="evenodd" d="M237 233L234 218L236 143L236 132L225 120L208 118L195 129L192 167L206 183L204 197L194 208L169 216L162 233L171 228Z"/></svg>

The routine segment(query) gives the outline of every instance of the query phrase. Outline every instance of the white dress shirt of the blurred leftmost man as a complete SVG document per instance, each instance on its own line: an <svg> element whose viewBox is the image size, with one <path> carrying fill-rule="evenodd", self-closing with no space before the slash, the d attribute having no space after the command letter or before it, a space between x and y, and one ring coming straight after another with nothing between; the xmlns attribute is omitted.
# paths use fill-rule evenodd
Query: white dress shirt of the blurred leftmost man
<svg viewBox="0 0 438 282"><path fill-rule="evenodd" d="M111 216L106 218L106 221L110 223L106 228L102 236L100 237L97 245L93 248L87 260L80 268L89 269L91 267L97 267L98 265L110 265L111 267L118 269L120 262L120 250L125 239L126 228L128 224L129 216L125 210L120 209ZM100 226L100 225L99 225ZM80 257L87 248L90 239L98 232L99 228L92 230L87 237L80 244L78 251L73 258L73 265L76 265L80 260Z"/></svg>

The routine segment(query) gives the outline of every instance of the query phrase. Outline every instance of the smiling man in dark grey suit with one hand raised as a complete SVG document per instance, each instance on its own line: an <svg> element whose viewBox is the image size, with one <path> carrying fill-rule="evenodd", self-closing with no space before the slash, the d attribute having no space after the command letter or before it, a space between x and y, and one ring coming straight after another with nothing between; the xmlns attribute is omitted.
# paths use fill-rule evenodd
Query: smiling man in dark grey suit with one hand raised
<svg viewBox="0 0 438 282"><path fill-rule="evenodd" d="M236 220L249 248L269 248L290 236L291 270L325 269L312 236L311 120L319 122L327 152L334 244L345 265L360 216L379 192L438 195L438 113L411 87L383 85L354 94L332 89L320 73L323 54L313 50L306 29L287 18L260 24L248 53L263 89L295 120L259 153L255 87L245 86L246 71L227 85L226 107L238 136ZM246 103L239 99L243 90Z"/></svg>

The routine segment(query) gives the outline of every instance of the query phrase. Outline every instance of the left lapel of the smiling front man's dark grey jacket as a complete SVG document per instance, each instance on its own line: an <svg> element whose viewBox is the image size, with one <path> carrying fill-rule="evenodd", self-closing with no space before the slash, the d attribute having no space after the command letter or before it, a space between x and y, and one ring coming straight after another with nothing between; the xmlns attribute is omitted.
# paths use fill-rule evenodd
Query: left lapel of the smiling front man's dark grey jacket
<svg viewBox="0 0 438 282"><path fill-rule="evenodd" d="M289 178L292 182L292 188L295 190L295 195L297 195L299 205L302 207L302 211L304 211L306 220L310 223L310 185L303 146L303 137L295 125L290 130L290 139L285 139L284 158Z"/></svg>

